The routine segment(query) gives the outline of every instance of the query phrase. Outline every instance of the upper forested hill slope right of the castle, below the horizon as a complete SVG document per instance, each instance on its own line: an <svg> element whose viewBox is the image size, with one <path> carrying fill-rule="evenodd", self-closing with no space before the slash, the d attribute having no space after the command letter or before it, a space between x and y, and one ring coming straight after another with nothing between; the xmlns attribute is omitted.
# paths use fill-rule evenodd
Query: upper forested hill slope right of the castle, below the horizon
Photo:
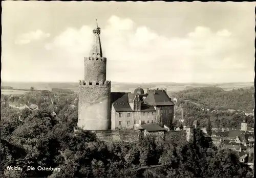
<svg viewBox="0 0 256 178"><path fill-rule="evenodd" d="M171 94L183 100L191 100L206 108L234 109L252 112L254 109L254 87L225 91L218 87L200 87Z"/></svg>

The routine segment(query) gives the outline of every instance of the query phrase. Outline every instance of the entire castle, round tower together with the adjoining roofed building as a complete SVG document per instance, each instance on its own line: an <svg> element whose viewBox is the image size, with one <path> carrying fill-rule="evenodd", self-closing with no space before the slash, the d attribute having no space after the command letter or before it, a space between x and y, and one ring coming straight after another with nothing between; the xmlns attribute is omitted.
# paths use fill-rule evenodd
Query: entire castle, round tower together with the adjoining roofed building
<svg viewBox="0 0 256 178"><path fill-rule="evenodd" d="M106 58L102 55L100 28L93 30L94 43L84 58L84 80L79 81L77 126L83 130L134 129L136 124L172 126L174 103L166 89L140 87L134 92L111 92L106 81Z"/></svg>

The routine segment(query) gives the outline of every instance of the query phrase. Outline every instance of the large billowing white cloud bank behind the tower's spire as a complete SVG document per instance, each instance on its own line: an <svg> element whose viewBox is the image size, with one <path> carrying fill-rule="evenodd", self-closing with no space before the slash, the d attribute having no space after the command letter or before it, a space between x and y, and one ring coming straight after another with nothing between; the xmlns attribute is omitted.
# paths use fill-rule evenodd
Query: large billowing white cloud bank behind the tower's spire
<svg viewBox="0 0 256 178"><path fill-rule="evenodd" d="M82 75L81 59L89 54L92 39L91 27L69 28L46 44L46 48L66 59L59 58L56 63L81 70L79 75ZM204 76L195 74L201 70L243 67L234 57L239 43L227 29L214 33L207 27L196 27L186 37L167 38L137 26L131 19L112 16L101 29L101 42L103 55L109 61L108 78L113 81L125 78L127 82L152 82L173 78L173 82L198 82L204 80ZM208 80L206 75L205 80Z"/></svg>

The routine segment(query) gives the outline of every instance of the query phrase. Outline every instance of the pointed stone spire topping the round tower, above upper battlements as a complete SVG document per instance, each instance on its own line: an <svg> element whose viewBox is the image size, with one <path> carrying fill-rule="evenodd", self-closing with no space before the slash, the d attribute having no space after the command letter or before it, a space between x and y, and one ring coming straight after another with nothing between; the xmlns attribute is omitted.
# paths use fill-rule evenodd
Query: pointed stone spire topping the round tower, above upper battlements
<svg viewBox="0 0 256 178"><path fill-rule="evenodd" d="M101 49L101 43L100 43L100 28L98 27L98 21L96 19L96 26L97 28L93 30L94 34L94 42L92 44L92 48L90 51L90 57L95 58L102 58L102 49Z"/></svg>

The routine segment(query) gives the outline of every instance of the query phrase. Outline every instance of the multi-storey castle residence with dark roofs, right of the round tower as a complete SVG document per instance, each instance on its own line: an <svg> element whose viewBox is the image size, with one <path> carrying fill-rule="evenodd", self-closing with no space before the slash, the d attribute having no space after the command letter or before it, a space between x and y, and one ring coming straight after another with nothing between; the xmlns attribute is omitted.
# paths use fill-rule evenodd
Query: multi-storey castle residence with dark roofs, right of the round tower
<svg viewBox="0 0 256 178"><path fill-rule="evenodd" d="M135 124L172 126L174 103L166 89L136 88L133 93L111 93L111 129L134 129Z"/></svg>

